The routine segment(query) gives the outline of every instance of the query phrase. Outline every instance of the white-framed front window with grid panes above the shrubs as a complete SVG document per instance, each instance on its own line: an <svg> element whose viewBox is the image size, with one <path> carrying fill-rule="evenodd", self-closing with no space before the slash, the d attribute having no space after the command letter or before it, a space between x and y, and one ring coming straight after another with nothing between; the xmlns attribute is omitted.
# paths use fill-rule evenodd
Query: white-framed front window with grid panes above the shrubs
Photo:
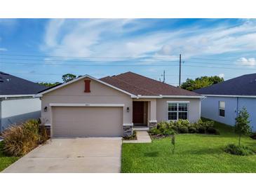
<svg viewBox="0 0 256 192"><path fill-rule="evenodd" d="M187 103L168 103L168 120L187 119Z"/></svg>

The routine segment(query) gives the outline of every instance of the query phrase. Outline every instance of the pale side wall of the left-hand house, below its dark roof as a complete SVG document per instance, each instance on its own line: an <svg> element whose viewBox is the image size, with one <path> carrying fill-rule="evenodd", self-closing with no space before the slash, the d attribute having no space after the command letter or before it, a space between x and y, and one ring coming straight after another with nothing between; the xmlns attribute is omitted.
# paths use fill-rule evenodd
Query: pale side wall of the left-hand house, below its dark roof
<svg viewBox="0 0 256 192"><path fill-rule="evenodd" d="M1 130L13 123L41 116L41 100L39 98L11 98L1 101Z"/></svg>

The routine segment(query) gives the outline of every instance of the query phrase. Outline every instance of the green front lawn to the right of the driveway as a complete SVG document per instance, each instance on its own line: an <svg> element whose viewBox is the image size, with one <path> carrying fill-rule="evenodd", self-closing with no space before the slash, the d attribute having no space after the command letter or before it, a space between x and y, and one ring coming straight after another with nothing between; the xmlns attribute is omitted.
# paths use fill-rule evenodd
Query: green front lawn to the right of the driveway
<svg viewBox="0 0 256 192"><path fill-rule="evenodd" d="M256 172L256 155L234 156L224 152L227 144L238 144L229 125L215 122L220 135L176 135L175 153L170 138L151 144L123 144L121 172ZM256 151L256 140L243 137L241 144Z"/></svg>

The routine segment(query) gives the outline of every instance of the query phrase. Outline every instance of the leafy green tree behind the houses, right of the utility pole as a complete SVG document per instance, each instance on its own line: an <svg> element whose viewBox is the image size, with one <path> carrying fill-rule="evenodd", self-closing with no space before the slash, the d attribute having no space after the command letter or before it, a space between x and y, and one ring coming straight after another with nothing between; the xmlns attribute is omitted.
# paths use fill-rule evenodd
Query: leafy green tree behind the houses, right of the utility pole
<svg viewBox="0 0 256 192"><path fill-rule="evenodd" d="M222 81L224 81L224 78L220 78L220 76L201 76L195 80L187 78L187 81L182 83L181 88L186 90L196 90L208 87L215 83L220 83Z"/></svg>

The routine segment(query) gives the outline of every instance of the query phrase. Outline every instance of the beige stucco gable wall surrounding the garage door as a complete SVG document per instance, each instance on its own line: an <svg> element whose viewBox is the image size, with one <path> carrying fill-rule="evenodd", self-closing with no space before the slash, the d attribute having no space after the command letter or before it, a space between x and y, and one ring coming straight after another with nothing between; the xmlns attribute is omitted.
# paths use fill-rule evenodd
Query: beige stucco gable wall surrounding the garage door
<svg viewBox="0 0 256 192"><path fill-rule="evenodd" d="M119 90L110 88L107 85L90 79L90 92L84 92L84 80L70 83L62 88L58 88L48 92L41 97L41 120L42 123L50 124L50 103L62 104L124 104L123 107L123 123L133 122L133 100ZM48 110L43 109L47 107ZM130 111L127 112L126 108ZM100 121L100 117L98 118Z"/></svg>

